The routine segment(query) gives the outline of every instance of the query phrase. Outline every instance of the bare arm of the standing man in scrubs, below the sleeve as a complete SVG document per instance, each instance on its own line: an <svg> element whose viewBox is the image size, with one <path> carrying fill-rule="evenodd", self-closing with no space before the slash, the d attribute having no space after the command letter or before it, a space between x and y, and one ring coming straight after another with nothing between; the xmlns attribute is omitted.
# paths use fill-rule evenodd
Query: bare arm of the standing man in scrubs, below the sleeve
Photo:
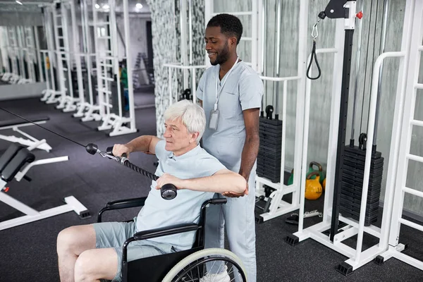
<svg viewBox="0 0 423 282"><path fill-rule="evenodd" d="M240 175L247 181L250 178L252 166L254 166L257 154L259 154L259 108L243 111L245 123L245 144L241 154Z"/></svg>

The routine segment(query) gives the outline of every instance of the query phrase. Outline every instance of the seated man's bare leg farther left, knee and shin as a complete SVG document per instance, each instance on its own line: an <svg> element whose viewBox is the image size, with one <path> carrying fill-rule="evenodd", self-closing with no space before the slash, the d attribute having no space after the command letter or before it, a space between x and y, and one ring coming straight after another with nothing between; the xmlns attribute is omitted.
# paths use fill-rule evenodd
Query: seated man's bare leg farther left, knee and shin
<svg viewBox="0 0 423 282"><path fill-rule="evenodd" d="M57 255L61 282L73 282L75 262L82 252L95 249L95 231L92 225L71 226L57 236Z"/></svg>

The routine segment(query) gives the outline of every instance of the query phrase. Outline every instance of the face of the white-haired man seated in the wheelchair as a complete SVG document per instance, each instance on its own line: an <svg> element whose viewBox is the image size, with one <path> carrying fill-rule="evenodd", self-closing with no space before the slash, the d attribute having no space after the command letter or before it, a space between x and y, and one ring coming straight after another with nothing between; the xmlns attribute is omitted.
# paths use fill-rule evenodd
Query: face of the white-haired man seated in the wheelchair
<svg viewBox="0 0 423 282"><path fill-rule="evenodd" d="M187 127L183 124L182 118L172 121L167 119L164 122L166 128L164 139L166 140L166 151L173 152L175 156L185 154L197 147L197 137L199 133L188 133Z"/></svg>

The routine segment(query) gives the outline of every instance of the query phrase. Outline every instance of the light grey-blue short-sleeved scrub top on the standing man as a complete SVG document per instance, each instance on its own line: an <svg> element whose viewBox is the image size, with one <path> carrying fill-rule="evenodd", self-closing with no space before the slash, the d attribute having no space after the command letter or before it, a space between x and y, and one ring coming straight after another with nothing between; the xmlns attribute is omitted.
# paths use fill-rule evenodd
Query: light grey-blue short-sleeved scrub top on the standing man
<svg viewBox="0 0 423 282"><path fill-rule="evenodd" d="M202 100L207 119L202 147L228 169L238 173L245 143L243 111L260 108L263 82L243 61L237 63L233 71L229 75L226 73L222 80L219 80L219 70L219 65L207 68L198 84L197 97ZM216 102L216 80L220 92L219 119L217 130L212 130L209 129L209 121ZM221 83L225 80L221 89Z"/></svg>

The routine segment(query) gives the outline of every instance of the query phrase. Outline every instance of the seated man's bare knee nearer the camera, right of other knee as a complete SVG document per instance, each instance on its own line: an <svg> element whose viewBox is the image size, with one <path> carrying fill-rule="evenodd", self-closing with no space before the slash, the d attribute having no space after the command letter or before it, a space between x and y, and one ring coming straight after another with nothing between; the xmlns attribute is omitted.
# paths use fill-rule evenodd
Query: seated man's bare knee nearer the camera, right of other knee
<svg viewBox="0 0 423 282"><path fill-rule="evenodd" d="M118 272L118 255L114 248L86 250L75 263L75 282L112 280Z"/></svg>

